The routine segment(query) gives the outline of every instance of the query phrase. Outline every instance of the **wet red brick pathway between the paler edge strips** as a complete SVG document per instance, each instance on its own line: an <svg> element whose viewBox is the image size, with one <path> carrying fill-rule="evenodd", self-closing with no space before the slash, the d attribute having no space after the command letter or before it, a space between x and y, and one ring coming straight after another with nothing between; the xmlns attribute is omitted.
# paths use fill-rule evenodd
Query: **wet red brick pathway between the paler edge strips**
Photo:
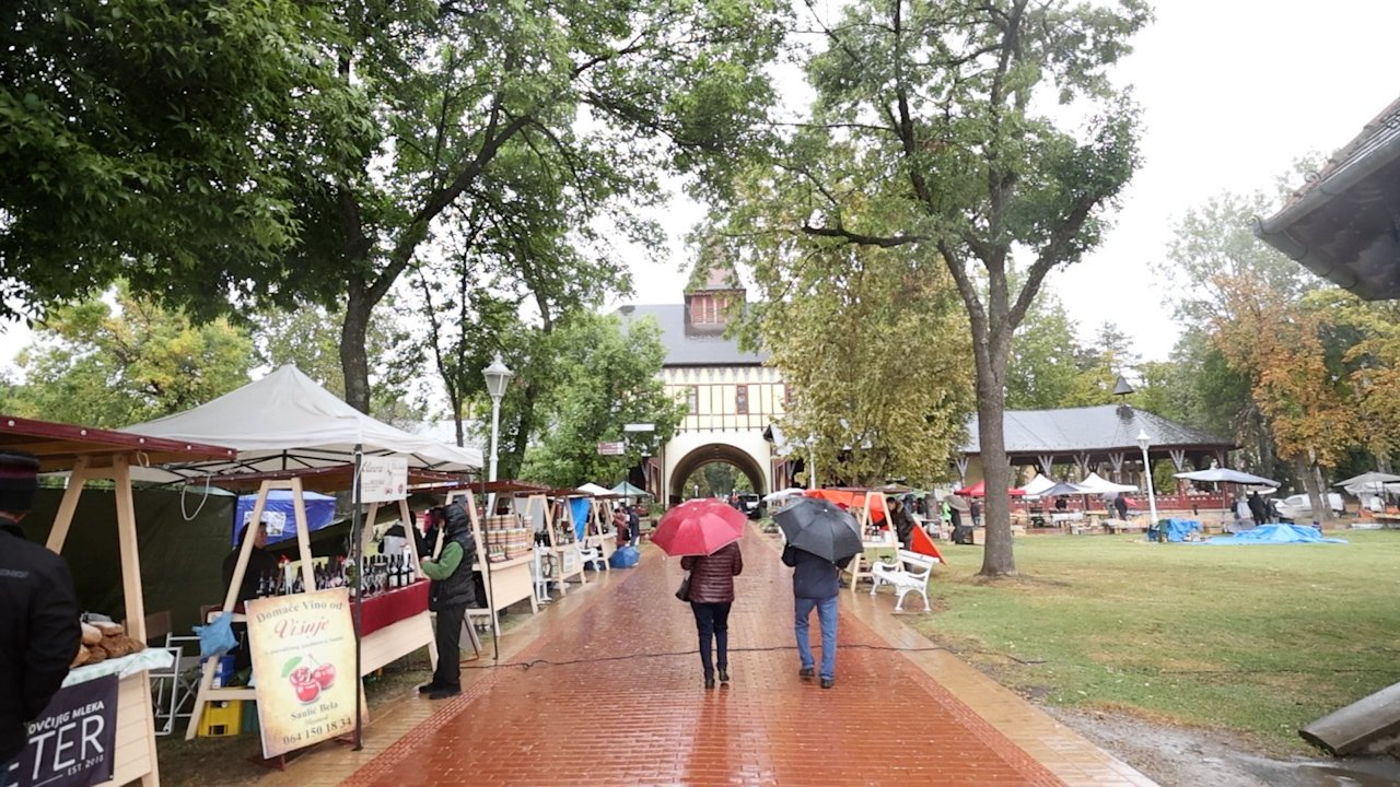
<svg viewBox="0 0 1400 787"><path fill-rule="evenodd" d="M799 679L790 573L763 538L742 542L728 688L704 690L679 562L647 548L344 784L1063 784L846 612L836 688ZM819 654L815 613L812 637Z"/></svg>

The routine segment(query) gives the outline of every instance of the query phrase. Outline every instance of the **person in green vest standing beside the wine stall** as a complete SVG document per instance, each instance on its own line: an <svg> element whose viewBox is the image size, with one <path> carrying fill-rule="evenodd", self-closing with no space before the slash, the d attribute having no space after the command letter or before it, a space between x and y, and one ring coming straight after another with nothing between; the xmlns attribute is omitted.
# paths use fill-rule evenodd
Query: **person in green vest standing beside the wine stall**
<svg viewBox="0 0 1400 787"><path fill-rule="evenodd" d="M461 500L434 510L433 517L445 528L442 553L437 560L423 560L423 573L433 580L428 606L438 616L438 665L433 681L419 686L419 693L441 700L462 693L462 654L458 640L466 609L476 606L476 583L472 580L476 539Z"/></svg>

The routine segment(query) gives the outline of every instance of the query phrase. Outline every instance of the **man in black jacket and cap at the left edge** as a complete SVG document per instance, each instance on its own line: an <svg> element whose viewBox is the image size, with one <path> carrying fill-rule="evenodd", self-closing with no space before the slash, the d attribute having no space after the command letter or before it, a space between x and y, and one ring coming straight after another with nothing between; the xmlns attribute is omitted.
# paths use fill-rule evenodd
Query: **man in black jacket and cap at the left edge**
<svg viewBox="0 0 1400 787"><path fill-rule="evenodd" d="M0 451L0 784L83 641L67 563L20 528L38 472L34 454Z"/></svg>

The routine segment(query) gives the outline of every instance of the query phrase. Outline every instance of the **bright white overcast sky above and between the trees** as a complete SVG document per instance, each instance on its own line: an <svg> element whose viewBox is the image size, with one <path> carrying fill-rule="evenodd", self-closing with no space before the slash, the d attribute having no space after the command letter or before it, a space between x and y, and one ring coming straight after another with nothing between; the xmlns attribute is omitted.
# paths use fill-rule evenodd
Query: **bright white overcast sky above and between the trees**
<svg viewBox="0 0 1400 787"><path fill-rule="evenodd" d="M1165 360L1179 332L1161 293L1173 283L1152 263L1172 225L1221 192L1271 190L1295 158L1348 143L1400 95L1397 29L1394 0L1159 0L1117 69L1142 106L1144 165L1106 242L1047 279L1081 339L1110 319L1144 360ZM690 258L679 238L699 217L680 203L666 214L672 260L633 262L637 302L680 302L676 270Z"/></svg>

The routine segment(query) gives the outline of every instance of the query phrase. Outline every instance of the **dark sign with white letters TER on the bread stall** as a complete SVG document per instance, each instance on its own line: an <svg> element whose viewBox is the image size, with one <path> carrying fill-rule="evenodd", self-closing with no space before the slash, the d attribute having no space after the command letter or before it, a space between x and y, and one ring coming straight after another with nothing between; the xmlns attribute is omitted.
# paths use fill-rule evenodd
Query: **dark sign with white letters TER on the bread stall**
<svg viewBox="0 0 1400 787"><path fill-rule="evenodd" d="M87 787L112 780L116 765L116 675L59 689L39 718L29 723L29 744L0 773L0 784Z"/></svg>

